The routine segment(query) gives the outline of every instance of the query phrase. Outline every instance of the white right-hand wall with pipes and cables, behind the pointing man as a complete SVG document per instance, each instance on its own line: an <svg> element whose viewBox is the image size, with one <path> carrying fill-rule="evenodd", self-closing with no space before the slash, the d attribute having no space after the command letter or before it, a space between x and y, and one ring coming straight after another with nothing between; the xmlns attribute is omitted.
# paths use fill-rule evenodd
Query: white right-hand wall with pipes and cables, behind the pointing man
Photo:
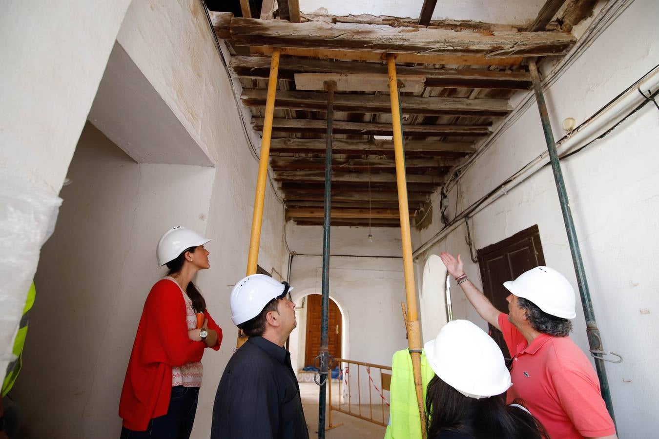
<svg viewBox="0 0 659 439"><path fill-rule="evenodd" d="M637 0L546 91L554 136L568 116L583 122L633 84L659 59L659 30L654 17L659 5ZM604 347L623 356L606 363L621 437L652 437L659 423L654 413L659 384L654 378L659 309L654 263L659 227L659 118L646 105L612 134L561 162L577 235L585 262L594 312ZM482 197L544 151L538 110L530 107L463 176L458 210ZM455 203L451 194L449 206ZM437 203L436 203L437 204ZM449 217L452 217L449 209ZM439 215L434 215L435 219ZM547 265L561 271L577 290L558 195L550 168L545 167L474 215L471 223L478 248L499 242L538 224ZM435 234L438 220L415 237L415 248ZM465 271L481 286L478 267L468 262L466 230L461 225L428 253L444 249L462 253ZM578 299L578 297L577 297ZM579 303L579 300L577 300ZM577 305L573 340L587 351L581 304ZM453 288L453 313L480 323L459 288Z"/></svg>

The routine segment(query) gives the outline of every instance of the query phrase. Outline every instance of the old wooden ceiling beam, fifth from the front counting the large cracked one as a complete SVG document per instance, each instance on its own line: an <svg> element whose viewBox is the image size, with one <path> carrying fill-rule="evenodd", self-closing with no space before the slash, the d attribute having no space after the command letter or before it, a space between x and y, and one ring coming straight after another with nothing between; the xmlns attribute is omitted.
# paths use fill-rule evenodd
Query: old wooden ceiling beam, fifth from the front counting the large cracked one
<svg viewBox="0 0 659 439"><path fill-rule="evenodd" d="M270 153L301 153L324 155L325 139L273 139L270 143ZM393 157L393 140L334 139L332 151L335 154L386 155ZM469 154L476 152L473 143L463 142L431 142L408 140L405 142L405 156L441 156L447 153Z"/></svg>

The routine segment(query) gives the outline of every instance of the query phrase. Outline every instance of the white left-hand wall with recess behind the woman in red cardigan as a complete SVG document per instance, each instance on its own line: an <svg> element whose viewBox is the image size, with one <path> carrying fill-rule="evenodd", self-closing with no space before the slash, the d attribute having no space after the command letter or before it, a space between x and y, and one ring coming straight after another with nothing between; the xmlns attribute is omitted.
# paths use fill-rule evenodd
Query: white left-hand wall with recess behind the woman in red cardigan
<svg viewBox="0 0 659 439"><path fill-rule="evenodd" d="M101 143L102 151L76 157L74 184L66 188L74 195L63 192L69 207L40 270L45 280L37 303L43 305L37 306L43 320L33 317L31 347L26 348L32 353L26 354L26 369L14 392L32 428L24 437L118 436L119 393L136 326L144 298L162 274L152 261L155 245L176 224L213 239L212 269L200 273L197 282L223 327L225 342L219 353L204 357L206 375L192 433L193 438L208 437L217 382L235 348L237 330L228 299L245 272L258 163L199 6L196 0L157 5L134 1L118 40L217 167L138 165L116 145L112 149L107 139L91 142ZM268 189L259 264L285 275L283 226L281 203ZM111 232L103 233L105 229ZM78 338L83 342L74 344ZM53 358L57 363L50 367ZM53 373L44 373L43 365Z"/></svg>

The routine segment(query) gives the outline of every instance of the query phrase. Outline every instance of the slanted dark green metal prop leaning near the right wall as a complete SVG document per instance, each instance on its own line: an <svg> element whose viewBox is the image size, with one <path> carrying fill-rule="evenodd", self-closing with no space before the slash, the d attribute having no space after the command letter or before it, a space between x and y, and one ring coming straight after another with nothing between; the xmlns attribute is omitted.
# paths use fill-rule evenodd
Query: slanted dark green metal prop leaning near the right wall
<svg viewBox="0 0 659 439"><path fill-rule="evenodd" d="M577 274L577 285L579 286L579 295L581 296L581 304L583 305L583 313L586 318L586 333L588 336L588 344L590 345L590 352L594 354L604 353L602 348L602 337L600 330L597 328L595 320L595 313L592 309L592 301L590 300L590 290L588 290L588 281L586 279L586 271L583 267L583 259L581 257L581 249L579 248L579 240L577 240L577 231L572 219L572 212L570 210L570 203L567 199L567 191L565 190L565 181L563 180L563 171L561 171L561 164L556 152L556 142L554 142L554 134L552 133L552 125L549 121L547 113L547 105L544 101L544 94L542 93L542 86L540 85L540 75L538 74L538 67L535 61L529 63L529 72L533 82L533 90L535 91L536 101L538 103L538 110L540 111L540 120L542 120L542 129L544 130L544 138L547 142L547 149L549 151L550 161L552 163L552 170L554 171L554 180L556 181L556 190L558 191L558 199L561 204L561 211L563 212L563 221L565 222L565 230L567 232L567 241L570 245L572 253L572 263L575 267ZM600 379L600 388L602 390L602 398L606 403L606 408L611 415L611 418L616 422L614 417L614 407L611 400L611 391L609 382L606 378L606 369L604 368L604 359L593 355L595 359L595 368L597 376Z"/></svg>

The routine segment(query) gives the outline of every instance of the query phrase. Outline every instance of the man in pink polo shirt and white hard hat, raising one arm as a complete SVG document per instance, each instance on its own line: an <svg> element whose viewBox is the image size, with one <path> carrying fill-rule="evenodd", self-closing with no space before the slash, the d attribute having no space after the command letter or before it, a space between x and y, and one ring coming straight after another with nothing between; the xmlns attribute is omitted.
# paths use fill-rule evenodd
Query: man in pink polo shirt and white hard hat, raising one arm
<svg viewBox="0 0 659 439"><path fill-rule="evenodd" d="M504 314L467 279L460 255L456 260L443 252L441 257L480 317L503 333L513 355L507 402L522 400L552 438L616 439L597 374L567 336L569 319L576 317L575 292L567 279L536 267L505 282L511 294Z"/></svg>

